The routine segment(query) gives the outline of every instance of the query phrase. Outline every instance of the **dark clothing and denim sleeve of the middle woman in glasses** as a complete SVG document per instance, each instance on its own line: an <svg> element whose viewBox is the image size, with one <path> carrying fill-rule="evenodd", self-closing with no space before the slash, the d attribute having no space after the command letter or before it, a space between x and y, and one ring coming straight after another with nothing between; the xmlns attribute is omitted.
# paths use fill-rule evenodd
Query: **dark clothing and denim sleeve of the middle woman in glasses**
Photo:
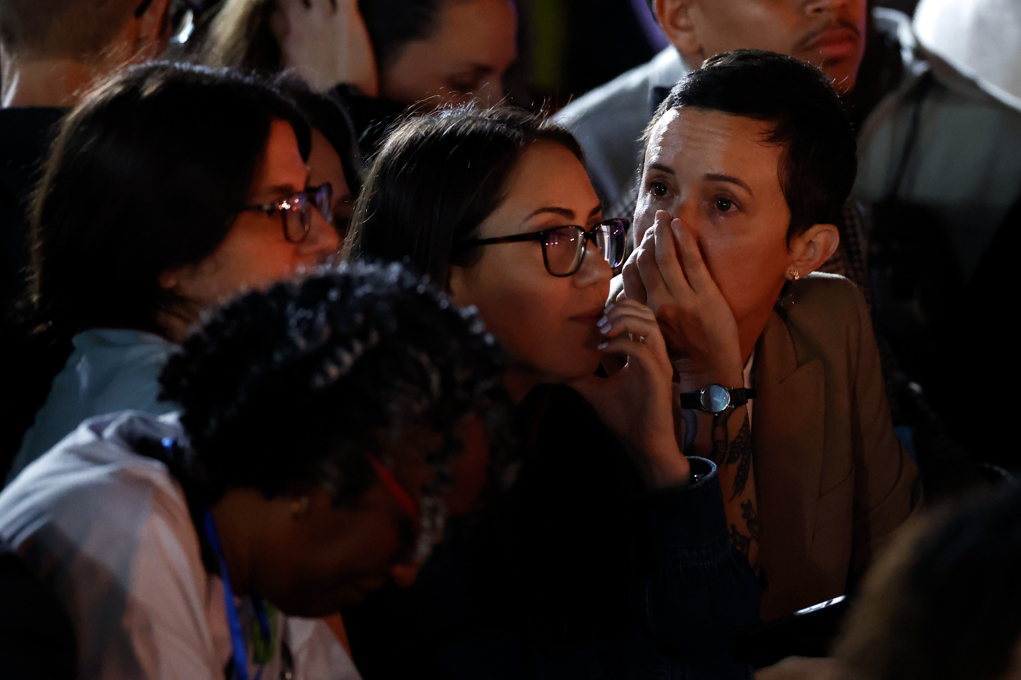
<svg viewBox="0 0 1021 680"><path fill-rule="evenodd" d="M568 387L519 408L523 456L475 526L453 527L410 588L344 612L366 680L749 678L733 637L758 580L730 545L715 466L648 492Z"/></svg>

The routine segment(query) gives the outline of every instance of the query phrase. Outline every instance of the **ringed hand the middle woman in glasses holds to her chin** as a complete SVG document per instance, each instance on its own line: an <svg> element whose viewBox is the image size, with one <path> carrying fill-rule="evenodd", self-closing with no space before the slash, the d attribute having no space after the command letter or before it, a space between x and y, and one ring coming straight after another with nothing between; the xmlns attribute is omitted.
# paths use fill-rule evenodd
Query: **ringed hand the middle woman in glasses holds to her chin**
<svg viewBox="0 0 1021 680"><path fill-rule="evenodd" d="M610 378L585 377L570 386L625 442L650 487L687 483L688 460L674 433L673 367L655 315L641 303L620 300L606 309L599 329L611 338L599 349L626 357L627 364Z"/></svg>

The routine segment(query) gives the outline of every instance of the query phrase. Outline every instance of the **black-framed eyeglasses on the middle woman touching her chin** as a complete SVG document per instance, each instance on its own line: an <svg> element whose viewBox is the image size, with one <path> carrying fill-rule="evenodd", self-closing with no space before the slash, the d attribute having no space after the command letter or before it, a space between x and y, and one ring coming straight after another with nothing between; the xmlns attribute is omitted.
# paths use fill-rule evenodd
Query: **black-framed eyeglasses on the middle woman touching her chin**
<svg viewBox="0 0 1021 680"><path fill-rule="evenodd" d="M571 276L581 269L589 241L595 244L611 267L616 269L621 266L630 226L630 219L605 219L588 230L583 226L568 224L530 233L465 241L461 245L493 246L538 241L542 244L542 261L546 265L546 271L553 276Z"/></svg>

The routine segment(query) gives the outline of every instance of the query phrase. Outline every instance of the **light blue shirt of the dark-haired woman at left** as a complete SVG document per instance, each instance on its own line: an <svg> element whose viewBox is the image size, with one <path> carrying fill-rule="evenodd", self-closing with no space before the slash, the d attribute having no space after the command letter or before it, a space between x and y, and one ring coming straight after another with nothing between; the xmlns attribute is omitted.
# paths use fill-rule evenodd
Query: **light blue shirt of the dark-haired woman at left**
<svg viewBox="0 0 1021 680"><path fill-rule="evenodd" d="M159 374L177 345L125 328L90 328L71 344L74 352L21 439L8 482L87 418L114 411L159 416L178 410L175 403L159 400Z"/></svg>

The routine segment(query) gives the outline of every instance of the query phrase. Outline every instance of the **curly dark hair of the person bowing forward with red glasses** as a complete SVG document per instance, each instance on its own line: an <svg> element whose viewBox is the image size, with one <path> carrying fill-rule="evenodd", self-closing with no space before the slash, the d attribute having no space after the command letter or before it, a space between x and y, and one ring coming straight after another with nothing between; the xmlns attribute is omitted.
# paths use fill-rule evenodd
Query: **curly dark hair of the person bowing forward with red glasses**
<svg viewBox="0 0 1021 680"><path fill-rule="evenodd" d="M464 416L505 422L500 353L478 314L397 263L342 263L241 297L160 381L182 406L183 467L206 506L233 487L273 498L308 483L343 505L374 479L374 431L420 424L446 438L429 459L442 478Z"/></svg>

